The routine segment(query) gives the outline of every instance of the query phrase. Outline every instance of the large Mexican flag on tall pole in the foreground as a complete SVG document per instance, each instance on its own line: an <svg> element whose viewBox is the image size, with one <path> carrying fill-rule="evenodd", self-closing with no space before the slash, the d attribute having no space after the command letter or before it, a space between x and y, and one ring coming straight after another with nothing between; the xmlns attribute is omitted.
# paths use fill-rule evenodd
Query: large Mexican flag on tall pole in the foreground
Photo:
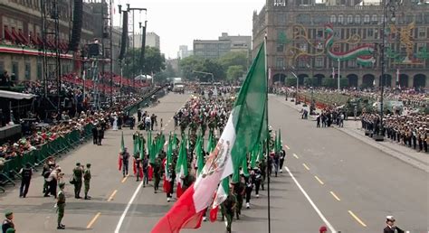
<svg viewBox="0 0 429 233"><path fill-rule="evenodd" d="M224 132L205 162L203 171L171 210L159 219L152 229L153 233L176 233L181 228L199 228L203 212L212 203L215 192L217 195L213 208L224 201L227 192L224 189L216 191L219 182L234 170L238 172L247 151L252 151L266 136L266 91L265 52L262 45L235 99Z"/></svg>

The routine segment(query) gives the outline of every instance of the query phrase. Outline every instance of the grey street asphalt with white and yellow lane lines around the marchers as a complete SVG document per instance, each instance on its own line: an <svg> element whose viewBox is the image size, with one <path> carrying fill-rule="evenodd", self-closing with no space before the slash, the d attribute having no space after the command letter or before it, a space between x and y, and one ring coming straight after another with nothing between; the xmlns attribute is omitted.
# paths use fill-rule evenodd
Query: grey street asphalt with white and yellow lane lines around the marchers
<svg viewBox="0 0 429 233"><path fill-rule="evenodd" d="M155 113L158 122L163 118L164 132L169 132L174 130L171 117L187 98L168 94L145 110ZM426 172L334 128L316 128L314 121L301 120L281 98L271 97L269 110L272 128L281 129L285 167L291 172L283 168L279 177L272 177L272 232L312 233L322 225L342 233L381 232L386 215L395 216L397 225L410 233L429 230ZM14 211L17 232L150 232L174 202L167 203L162 182L158 193L152 182L141 187L131 163L129 177L122 177L118 171L121 132L132 152L135 131L124 128L109 130L101 146L89 142L58 160L65 182L76 162L92 164L92 200L75 200L71 184L66 185L65 230L56 229L55 201L43 198L40 171L26 199L18 198L19 182L17 187L7 187L0 194L0 210ZM268 232L266 189L251 203L252 208L243 209L242 218L234 220L234 232ZM181 232L224 232L224 222L204 222L198 230Z"/></svg>

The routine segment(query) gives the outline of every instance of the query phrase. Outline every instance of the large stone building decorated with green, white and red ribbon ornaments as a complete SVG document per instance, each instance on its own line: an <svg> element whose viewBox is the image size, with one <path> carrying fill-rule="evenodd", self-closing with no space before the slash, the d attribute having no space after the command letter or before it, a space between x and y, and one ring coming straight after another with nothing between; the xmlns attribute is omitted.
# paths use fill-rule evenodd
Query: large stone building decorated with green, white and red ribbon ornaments
<svg viewBox="0 0 429 233"><path fill-rule="evenodd" d="M379 86L383 7L358 0L267 0L253 13L253 56L267 34L273 81L294 72L305 77L348 79L352 87ZM428 87L429 5L397 1L387 10L386 86Z"/></svg>

